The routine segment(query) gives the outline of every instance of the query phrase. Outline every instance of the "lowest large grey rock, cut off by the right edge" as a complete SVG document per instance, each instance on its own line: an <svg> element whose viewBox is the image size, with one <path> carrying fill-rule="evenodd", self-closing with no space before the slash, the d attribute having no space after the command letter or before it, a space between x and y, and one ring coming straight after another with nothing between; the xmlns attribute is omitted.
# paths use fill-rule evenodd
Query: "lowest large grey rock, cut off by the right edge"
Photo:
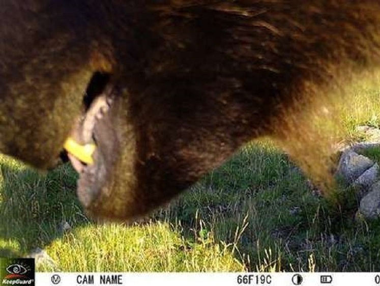
<svg viewBox="0 0 380 286"><path fill-rule="evenodd" d="M369 219L378 218L380 215L380 181L370 188L370 191L360 201L360 213Z"/></svg>

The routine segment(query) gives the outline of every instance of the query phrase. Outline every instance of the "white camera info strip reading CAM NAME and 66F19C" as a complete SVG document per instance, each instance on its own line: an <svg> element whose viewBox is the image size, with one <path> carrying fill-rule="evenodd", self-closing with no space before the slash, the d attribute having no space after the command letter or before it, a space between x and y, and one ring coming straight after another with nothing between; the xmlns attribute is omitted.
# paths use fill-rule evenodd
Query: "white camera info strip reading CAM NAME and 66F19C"
<svg viewBox="0 0 380 286"><path fill-rule="evenodd" d="M380 285L380 272L318 273L36 273L36 286L80 285ZM0 285L1 281L0 281ZM13 284L12 286L15 286ZM2 285L3 286L3 285Z"/></svg>

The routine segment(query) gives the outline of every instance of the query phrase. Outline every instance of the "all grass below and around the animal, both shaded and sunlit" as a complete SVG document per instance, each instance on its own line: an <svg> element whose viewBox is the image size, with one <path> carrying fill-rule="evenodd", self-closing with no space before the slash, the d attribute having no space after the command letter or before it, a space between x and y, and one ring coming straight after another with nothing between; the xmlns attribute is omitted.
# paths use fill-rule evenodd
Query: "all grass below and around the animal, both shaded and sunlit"
<svg viewBox="0 0 380 286"><path fill-rule="evenodd" d="M379 92L354 92L342 123L380 126ZM380 159L379 150L369 157ZM47 174L0 157L0 256L43 248L39 271L378 271L380 222L358 219L354 191L339 204L312 193L307 178L269 140L242 148L150 220L95 225L75 196L77 175ZM72 230L63 233L62 222Z"/></svg>

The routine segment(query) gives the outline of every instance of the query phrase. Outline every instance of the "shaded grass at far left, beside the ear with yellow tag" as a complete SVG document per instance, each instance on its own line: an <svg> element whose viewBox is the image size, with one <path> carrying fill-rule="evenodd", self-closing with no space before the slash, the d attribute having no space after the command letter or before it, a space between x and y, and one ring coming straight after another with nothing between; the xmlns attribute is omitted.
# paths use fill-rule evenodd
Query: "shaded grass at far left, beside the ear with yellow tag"
<svg viewBox="0 0 380 286"><path fill-rule="evenodd" d="M0 160L0 257L27 256L62 237L64 224L89 223L75 195L76 180L67 164L41 174Z"/></svg>

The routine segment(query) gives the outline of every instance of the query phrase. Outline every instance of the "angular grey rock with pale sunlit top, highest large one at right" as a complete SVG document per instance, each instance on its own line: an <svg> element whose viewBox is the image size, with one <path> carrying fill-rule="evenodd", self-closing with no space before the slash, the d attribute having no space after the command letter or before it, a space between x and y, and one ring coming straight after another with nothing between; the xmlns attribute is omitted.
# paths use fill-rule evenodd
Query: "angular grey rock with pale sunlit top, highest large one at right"
<svg viewBox="0 0 380 286"><path fill-rule="evenodd" d="M374 162L371 159L352 150L347 150L340 157L336 174L342 177L347 184L352 184L373 164Z"/></svg>

